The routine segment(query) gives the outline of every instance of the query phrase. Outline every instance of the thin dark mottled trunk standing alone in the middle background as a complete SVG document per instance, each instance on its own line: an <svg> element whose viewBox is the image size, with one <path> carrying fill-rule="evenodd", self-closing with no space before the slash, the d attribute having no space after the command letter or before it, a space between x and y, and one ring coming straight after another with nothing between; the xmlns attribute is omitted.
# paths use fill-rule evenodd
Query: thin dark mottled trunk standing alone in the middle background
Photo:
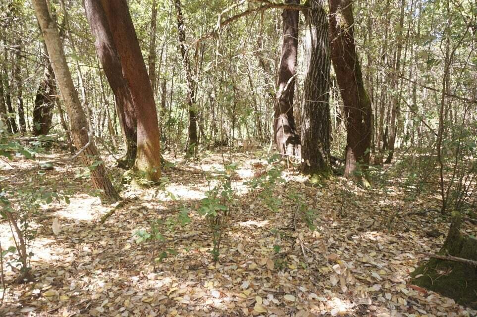
<svg viewBox="0 0 477 317"><path fill-rule="evenodd" d="M174 0L176 16L177 16L177 30L179 34L179 48L182 55L182 61L184 63L184 68L186 72L186 81L187 81L187 106L189 113L189 154L194 154L195 149L199 142L199 137L197 135L197 114L195 110L196 104L196 85L195 79L193 78L192 69L189 60L189 53L187 52L185 44L185 25L184 18L182 16L182 8L180 0Z"/></svg>

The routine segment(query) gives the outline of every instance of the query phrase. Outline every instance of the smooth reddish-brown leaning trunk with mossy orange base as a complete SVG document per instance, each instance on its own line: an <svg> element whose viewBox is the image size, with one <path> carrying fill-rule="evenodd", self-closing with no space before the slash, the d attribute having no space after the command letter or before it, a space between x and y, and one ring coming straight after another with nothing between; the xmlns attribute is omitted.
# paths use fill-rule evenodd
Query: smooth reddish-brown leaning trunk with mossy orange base
<svg viewBox="0 0 477 317"><path fill-rule="evenodd" d="M116 45L137 118L137 154L134 170L151 182L160 179L158 113L146 64L139 47L126 0L101 0Z"/></svg>

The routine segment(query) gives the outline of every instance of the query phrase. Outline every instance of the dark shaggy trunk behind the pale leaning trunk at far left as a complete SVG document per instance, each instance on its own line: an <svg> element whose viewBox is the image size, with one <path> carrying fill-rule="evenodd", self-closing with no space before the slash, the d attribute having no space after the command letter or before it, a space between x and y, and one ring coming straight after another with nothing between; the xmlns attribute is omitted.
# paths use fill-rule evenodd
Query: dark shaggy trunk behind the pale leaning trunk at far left
<svg viewBox="0 0 477 317"><path fill-rule="evenodd" d="M48 56L45 44L43 51L45 56ZM38 86L33 107L33 135L46 135L52 126L53 107L56 99L56 85L54 83L54 73L49 57L45 58L45 63L43 80Z"/></svg>

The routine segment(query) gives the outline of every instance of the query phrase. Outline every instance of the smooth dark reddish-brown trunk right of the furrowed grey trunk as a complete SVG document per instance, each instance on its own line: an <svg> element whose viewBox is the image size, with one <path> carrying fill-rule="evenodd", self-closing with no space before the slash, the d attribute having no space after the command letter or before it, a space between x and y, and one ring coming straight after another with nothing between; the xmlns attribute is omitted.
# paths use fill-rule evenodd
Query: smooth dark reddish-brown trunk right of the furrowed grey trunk
<svg viewBox="0 0 477 317"><path fill-rule="evenodd" d="M331 60L347 117L345 177L367 169L371 147L371 101L356 53L351 3L351 0L329 0Z"/></svg>

